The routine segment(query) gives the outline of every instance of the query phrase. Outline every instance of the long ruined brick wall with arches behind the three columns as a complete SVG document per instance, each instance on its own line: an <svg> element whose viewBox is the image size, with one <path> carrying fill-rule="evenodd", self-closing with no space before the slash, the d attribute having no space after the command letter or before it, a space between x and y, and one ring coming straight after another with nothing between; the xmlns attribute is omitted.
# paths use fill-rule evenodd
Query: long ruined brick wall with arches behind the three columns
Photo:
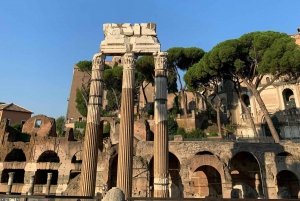
<svg viewBox="0 0 300 201"><path fill-rule="evenodd" d="M34 122L42 120L40 128ZM65 137L51 136L52 118L37 115L25 123L27 142L12 138L5 121L0 123L0 193L6 193L14 172L11 193L78 195L83 142L75 141L72 129ZM111 125L110 138L98 149L95 194L105 193L117 184L119 122L103 118ZM32 125L32 126L29 126ZM134 123L132 196L154 195L153 123ZM31 128L30 128L31 127ZM30 129L29 129L30 128ZM40 129L40 132L38 132ZM149 130L150 129L150 130ZM152 129L152 130L151 130ZM25 131L24 130L24 131ZM42 132L43 131L43 132ZM255 143L251 141L183 141L175 136L169 142L170 197L298 198L300 191L299 141ZM51 181L47 180L52 173ZM48 185L49 184L49 185Z"/></svg>

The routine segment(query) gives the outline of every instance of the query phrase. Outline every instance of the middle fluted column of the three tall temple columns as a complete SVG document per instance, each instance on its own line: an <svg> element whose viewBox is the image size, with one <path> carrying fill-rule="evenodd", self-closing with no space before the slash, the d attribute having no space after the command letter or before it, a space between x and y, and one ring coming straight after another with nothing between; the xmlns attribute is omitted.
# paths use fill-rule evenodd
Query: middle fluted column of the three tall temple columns
<svg viewBox="0 0 300 201"><path fill-rule="evenodd" d="M117 187L124 192L126 199L131 197L132 191L135 61L133 53L124 55Z"/></svg>

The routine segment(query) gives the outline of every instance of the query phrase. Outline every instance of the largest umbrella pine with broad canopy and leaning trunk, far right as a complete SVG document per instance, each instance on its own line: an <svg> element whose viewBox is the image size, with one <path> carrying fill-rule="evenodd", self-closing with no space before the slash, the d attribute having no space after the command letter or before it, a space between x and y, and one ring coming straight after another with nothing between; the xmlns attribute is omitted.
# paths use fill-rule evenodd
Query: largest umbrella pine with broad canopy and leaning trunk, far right
<svg viewBox="0 0 300 201"><path fill-rule="evenodd" d="M252 32L216 45L205 59L190 68L185 81L196 88L203 83L203 74L209 74L245 85L259 104L275 142L279 142L260 93L280 76L296 77L299 69L300 49L289 35L272 31ZM265 75L272 75L272 79L262 86L260 81Z"/></svg>

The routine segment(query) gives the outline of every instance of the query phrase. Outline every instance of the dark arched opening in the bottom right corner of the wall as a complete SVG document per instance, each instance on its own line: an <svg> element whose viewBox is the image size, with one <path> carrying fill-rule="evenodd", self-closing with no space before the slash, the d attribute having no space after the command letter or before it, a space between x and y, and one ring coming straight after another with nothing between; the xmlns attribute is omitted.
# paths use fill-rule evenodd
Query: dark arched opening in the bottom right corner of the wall
<svg viewBox="0 0 300 201"><path fill-rule="evenodd" d="M297 176L288 170L283 170L276 175L278 188L278 198L281 199L298 199L300 190Z"/></svg>

